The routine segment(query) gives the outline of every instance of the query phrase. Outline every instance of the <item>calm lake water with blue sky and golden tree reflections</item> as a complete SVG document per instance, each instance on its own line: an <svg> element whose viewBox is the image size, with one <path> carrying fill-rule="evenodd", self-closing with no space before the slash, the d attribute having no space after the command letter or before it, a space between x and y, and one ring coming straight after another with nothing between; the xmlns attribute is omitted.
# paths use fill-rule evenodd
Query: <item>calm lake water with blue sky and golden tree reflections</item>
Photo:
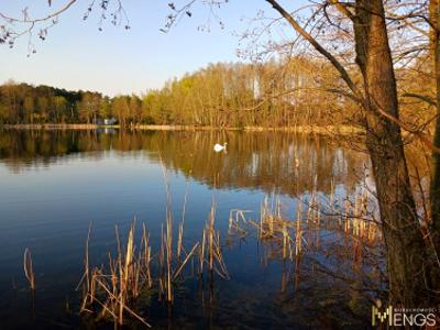
<svg viewBox="0 0 440 330"><path fill-rule="evenodd" d="M213 145L223 142L227 151L216 153ZM145 223L152 250L158 251L168 206L175 238L185 220L183 245L188 253L201 240L212 204L229 278L199 276L197 262L188 262L173 304L158 301L153 290L139 307L153 329L364 326L371 297L360 294L365 278L359 274L374 267L365 261L361 268L366 271L356 271L352 257L323 249L329 244L342 251L344 235L331 227L340 217L316 216L328 226L317 224L311 239L304 235L300 262L280 257L272 249L277 242L260 240L258 228L250 223L261 221L262 204L285 219L296 219L299 205L309 212L314 200L321 207L329 200L343 207L363 189L367 167L365 154L306 134L0 131L0 328L111 329L111 321L92 323L88 312L79 314L81 289L76 287L84 274L89 224L89 263L99 266L109 252L116 253L116 226L125 244L134 219L135 237ZM237 209L246 212L232 211L232 219L243 215L248 222L240 220L232 232L230 215ZM353 250L346 241L343 246ZM34 295L23 271L26 248ZM153 253L156 264L154 258ZM340 280L330 270L359 276ZM367 275L370 284L376 279Z"/></svg>

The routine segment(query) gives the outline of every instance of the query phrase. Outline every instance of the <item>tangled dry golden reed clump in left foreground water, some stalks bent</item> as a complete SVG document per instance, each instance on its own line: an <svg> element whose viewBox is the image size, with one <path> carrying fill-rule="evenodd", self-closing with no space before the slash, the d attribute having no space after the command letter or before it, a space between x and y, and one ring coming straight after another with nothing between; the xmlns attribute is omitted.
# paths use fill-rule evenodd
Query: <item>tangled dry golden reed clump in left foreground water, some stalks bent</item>
<svg viewBox="0 0 440 330"><path fill-rule="evenodd" d="M160 301L173 304L175 287L186 279L185 268L189 265L198 263L200 276L206 270L211 275L218 274L228 279L229 273L222 255L220 232L215 228L215 218L216 209L212 206L202 231L201 243L197 241L187 250L183 243L184 221L178 226L176 243L172 215L168 213L162 227L160 251L155 254L152 253L150 233L144 224L139 245L135 242L135 221L130 226L125 245L121 244L117 227L116 256L109 253L106 265L95 266L91 270L88 256L89 229L85 272L78 285L78 288L82 286L84 293L81 312L98 315L99 319L111 319L119 326L125 324L129 316L130 319L136 319L144 326L151 327L134 307L135 302L147 295L157 296ZM154 267L154 264L157 267Z"/></svg>

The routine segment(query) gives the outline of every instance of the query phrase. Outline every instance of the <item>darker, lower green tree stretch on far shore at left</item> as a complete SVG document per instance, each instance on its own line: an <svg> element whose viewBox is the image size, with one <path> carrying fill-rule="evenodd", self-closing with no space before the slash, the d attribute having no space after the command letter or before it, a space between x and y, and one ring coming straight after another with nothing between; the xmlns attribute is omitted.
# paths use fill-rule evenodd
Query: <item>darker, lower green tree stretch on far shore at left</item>
<svg viewBox="0 0 440 330"><path fill-rule="evenodd" d="M125 122L136 113L141 99L136 96L110 98L94 91L70 91L50 86L32 86L8 81L0 86L0 123L94 123L117 117ZM125 109L129 108L129 109Z"/></svg>

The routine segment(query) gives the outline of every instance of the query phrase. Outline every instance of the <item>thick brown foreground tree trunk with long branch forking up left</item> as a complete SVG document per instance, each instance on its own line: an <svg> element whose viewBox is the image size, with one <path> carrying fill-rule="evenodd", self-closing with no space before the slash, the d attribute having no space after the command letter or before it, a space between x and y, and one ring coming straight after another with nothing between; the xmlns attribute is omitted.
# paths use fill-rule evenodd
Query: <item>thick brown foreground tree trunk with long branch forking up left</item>
<svg viewBox="0 0 440 330"><path fill-rule="evenodd" d="M307 33L275 0L266 0L340 73L366 113L370 151L387 248L389 300L404 307L422 307L433 300L429 287L427 250L410 188L398 101L382 0L356 0L355 12L331 1L353 21L356 63L364 78L364 96L340 62ZM427 285L428 284L428 285Z"/></svg>

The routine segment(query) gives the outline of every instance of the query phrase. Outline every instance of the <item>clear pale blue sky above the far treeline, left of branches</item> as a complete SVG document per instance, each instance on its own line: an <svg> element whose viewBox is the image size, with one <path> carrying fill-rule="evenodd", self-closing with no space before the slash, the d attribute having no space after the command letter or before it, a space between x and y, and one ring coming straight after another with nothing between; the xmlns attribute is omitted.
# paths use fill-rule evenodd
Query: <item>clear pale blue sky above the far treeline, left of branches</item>
<svg viewBox="0 0 440 330"><path fill-rule="evenodd" d="M53 8L59 8L67 0L52 2ZM258 10L275 15L265 1L230 0L218 12L224 30L213 22L210 32L199 32L198 26L207 21L209 13L207 9L197 7L193 18L185 18L164 34L160 29L169 13L169 1L125 0L131 30L107 22L103 31L99 32L99 10L82 21L90 2L80 0L61 15L59 23L50 30L46 41L34 37L37 53L30 57L26 56L26 36L12 50L0 46L0 84L13 79L73 90L97 90L110 96L140 94L209 63L239 61L239 37L234 34L245 30L248 21L242 19L254 18ZM48 10L47 0L3 0L0 1L0 11L20 16L26 6L32 16L40 16Z"/></svg>

